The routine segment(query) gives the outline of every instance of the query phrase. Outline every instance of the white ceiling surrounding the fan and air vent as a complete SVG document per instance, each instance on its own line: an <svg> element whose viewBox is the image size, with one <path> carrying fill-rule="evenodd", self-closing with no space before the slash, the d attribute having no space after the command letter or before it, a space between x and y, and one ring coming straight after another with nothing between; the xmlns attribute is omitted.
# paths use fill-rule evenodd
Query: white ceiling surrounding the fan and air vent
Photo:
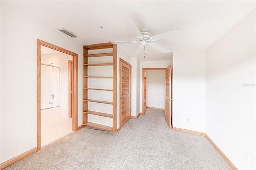
<svg viewBox="0 0 256 170"><path fill-rule="evenodd" d="M146 46L134 55L138 43L119 46L141 61L169 60L172 51L204 50L255 9L252 1L2 1L20 14L58 30L66 28L82 45L136 40L124 24L132 20L148 27L153 36L180 28L182 34L154 43L170 49L161 53ZM101 29L100 26L104 28ZM82 47L81 47L82 48Z"/></svg>

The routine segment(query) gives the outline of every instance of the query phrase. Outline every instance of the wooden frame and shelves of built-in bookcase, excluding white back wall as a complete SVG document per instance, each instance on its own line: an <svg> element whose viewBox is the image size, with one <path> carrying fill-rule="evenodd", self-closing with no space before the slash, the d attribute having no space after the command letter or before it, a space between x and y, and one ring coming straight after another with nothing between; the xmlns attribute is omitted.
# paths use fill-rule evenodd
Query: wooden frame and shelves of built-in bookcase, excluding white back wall
<svg viewBox="0 0 256 170"><path fill-rule="evenodd" d="M88 54L88 51L94 49L108 49L113 48L112 53L98 53L98 54ZM88 57L107 57L112 56L113 62L112 63L89 63ZM100 59L100 58L99 58ZM94 128L99 128L102 130L107 130L110 132L114 132L116 130L116 122L117 122L117 45L112 43L100 43L100 44L92 44L92 45L84 45L83 46L83 125L90 126ZM113 76L88 76L88 66L104 66L104 65L111 65L113 68ZM88 88L88 80L90 78L111 78L113 81L113 88L112 89L98 89L98 88ZM99 91L112 91L113 92L113 102L109 101L98 101L88 99L88 90L99 90ZM113 113L101 113L96 111L88 111L88 102L95 102L95 103L103 103L108 105L113 105ZM88 115L97 115L100 117L108 117L112 118L113 125L112 127L100 125L97 123L92 123L88 120Z"/></svg>

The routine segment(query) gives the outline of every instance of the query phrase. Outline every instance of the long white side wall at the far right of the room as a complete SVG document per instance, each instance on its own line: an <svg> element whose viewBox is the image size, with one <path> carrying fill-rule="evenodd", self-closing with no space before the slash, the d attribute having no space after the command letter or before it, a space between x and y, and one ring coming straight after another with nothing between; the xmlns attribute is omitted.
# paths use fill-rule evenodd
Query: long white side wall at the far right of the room
<svg viewBox="0 0 256 170"><path fill-rule="evenodd" d="M256 169L255 30L254 10L206 50L206 134L238 169Z"/></svg>

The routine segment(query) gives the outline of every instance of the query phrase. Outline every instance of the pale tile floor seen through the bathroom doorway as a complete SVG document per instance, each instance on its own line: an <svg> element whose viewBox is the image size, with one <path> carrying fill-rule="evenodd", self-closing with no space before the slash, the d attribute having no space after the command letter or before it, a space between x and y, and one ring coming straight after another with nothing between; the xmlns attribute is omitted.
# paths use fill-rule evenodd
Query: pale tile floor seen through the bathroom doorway
<svg viewBox="0 0 256 170"><path fill-rule="evenodd" d="M41 147L66 136L72 131L72 118L56 117L41 122Z"/></svg>

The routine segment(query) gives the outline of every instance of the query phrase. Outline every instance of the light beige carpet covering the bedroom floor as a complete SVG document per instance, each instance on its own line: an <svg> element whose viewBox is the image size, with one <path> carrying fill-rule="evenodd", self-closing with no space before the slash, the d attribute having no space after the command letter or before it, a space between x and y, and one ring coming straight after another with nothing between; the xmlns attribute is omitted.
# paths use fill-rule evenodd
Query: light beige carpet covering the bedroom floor
<svg viewBox="0 0 256 170"><path fill-rule="evenodd" d="M231 169L204 137L168 128L164 111L147 109L118 133L84 127L6 170Z"/></svg>

